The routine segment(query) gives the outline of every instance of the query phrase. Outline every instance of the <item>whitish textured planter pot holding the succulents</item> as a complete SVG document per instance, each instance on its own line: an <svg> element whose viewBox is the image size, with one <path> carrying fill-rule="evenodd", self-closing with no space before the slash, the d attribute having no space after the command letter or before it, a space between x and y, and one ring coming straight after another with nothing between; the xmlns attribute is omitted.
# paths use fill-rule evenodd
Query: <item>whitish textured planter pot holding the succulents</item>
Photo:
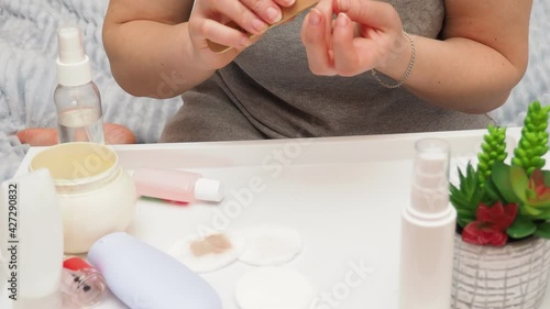
<svg viewBox="0 0 550 309"><path fill-rule="evenodd" d="M457 235L452 309L539 309L550 271L550 241L531 238L503 247Z"/></svg>

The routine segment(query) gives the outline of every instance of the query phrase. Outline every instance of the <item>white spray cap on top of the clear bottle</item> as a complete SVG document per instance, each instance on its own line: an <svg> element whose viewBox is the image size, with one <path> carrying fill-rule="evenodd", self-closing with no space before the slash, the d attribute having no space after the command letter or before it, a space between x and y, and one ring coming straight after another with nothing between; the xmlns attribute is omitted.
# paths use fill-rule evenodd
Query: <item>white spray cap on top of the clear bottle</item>
<svg viewBox="0 0 550 309"><path fill-rule="evenodd" d="M86 85L91 81L90 59L84 52L80 31L66 26L57 31L59 56L57 58L57 82L66 87Z"/></svg>

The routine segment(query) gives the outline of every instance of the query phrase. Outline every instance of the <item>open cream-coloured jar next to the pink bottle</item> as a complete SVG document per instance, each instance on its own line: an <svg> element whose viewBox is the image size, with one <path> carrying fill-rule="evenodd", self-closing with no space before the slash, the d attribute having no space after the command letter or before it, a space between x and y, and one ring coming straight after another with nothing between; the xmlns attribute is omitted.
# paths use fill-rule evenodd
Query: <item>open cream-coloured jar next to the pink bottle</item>
<svg viewBox="0 0 550 309"><path fill-rule="evenodd" d="M138 201L135 186L109 146L87 142L51 146L31 161L31 172L40 168L50 169L54 179L65 253L86 253L100 238L130 225Z"/></svg>

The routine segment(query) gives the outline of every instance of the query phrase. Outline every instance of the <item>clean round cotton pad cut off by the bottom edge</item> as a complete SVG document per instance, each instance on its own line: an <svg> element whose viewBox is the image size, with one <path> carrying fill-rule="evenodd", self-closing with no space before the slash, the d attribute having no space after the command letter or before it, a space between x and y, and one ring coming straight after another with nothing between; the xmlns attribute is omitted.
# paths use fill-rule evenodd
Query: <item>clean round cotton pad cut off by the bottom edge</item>
<svg viewBox="0 0 550 309"><path fill-rule="evenodd" d="M260 267L237 282L235 299L241 309L309 309L315 288L299 272L288 267Z"/></svg>

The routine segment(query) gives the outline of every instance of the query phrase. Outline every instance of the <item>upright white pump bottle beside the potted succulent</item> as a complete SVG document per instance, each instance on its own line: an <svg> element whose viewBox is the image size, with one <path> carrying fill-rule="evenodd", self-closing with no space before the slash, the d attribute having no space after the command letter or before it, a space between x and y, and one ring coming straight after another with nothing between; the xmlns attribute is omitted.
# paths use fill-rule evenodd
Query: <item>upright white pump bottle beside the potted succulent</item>
<svg viewBox="0 0 550 309"><path fill-rule="evenodd" d="M399 309L450 308L457 211L449 202L450 146L415 144L410 203L402 213Z"/></svg>

